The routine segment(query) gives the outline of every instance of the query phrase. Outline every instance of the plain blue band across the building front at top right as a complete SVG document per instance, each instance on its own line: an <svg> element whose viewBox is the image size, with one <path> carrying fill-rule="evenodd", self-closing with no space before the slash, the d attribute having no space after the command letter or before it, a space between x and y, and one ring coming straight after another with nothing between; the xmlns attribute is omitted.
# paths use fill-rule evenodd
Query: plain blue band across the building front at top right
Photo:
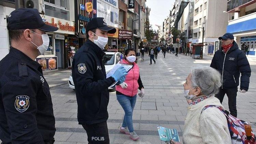
<svg viewBox="0 0 256 144"><path fill-rule="evenodd" d="M256 30L255 23L256 23L256 18L230 24L227 26L227 33L239 33L239 32Z"/></svg>

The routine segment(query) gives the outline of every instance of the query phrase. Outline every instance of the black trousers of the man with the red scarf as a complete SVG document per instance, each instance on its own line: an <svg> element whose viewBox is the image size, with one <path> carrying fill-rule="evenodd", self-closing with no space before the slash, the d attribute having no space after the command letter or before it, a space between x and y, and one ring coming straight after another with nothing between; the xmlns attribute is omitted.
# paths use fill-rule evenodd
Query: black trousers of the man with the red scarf
<svg viewBox="0 0 256 144"><path fill-rule="evenodd" d="M230 114L237 117L237 88L234 89L219 89L219 93L215 95L219 99L219 101L222 103L223 98L225 94L228 96L228 108L230 111Z"/></svg>

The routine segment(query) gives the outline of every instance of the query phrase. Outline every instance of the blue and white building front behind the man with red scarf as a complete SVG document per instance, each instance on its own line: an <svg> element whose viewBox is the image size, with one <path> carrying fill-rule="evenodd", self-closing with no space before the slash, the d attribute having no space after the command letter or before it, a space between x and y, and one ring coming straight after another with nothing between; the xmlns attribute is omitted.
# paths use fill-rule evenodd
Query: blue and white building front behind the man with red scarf
<svg viewBox="0 0 256 144"><path fill-rule="evenodd" d="M246 55L256 57L256 0L227 1L229 14L227 32L234 35L239 48L244 43L248 47Z"/></svg>

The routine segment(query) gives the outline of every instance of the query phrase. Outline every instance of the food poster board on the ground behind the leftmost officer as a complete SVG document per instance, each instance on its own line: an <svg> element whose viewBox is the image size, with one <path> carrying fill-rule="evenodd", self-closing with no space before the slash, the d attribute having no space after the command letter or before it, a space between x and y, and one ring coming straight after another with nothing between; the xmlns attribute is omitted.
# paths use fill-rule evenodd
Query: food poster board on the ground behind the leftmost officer
<svg viewBox="0 0 256 144"><path fill-rule="evenodd" d="M36 58L36 61L42 66L43 71L58 69L57 56Z"/></svg>

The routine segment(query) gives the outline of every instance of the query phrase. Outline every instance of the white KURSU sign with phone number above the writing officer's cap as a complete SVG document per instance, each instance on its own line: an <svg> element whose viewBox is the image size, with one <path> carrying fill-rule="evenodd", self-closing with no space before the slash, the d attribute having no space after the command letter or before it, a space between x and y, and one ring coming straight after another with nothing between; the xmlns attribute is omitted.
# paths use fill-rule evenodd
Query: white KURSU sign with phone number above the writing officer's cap
<svg viewBox="0 0 256 144"><path fill-rule="evenodd" d="M97 17L103 17L109 26L118 28L118 0L97 0Z"/></svg>

